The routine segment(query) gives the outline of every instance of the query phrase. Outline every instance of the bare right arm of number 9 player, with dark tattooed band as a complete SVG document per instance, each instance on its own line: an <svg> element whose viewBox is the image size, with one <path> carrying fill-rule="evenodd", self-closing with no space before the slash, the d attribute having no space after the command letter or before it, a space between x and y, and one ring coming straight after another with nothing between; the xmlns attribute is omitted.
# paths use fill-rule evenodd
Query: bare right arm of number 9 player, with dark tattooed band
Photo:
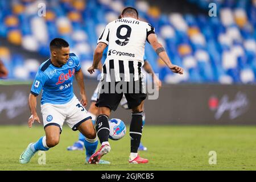
<svg viewBox="0 0 256 182"><path fill-rule="evenodd" d="M148 35L147 39L148 39L148 42L150 43L150 45L155 50L155 52L160 57L160 59L162 59L164 61L164 63L167 65L167 67L170 68L172 72L179 73L179 74L182 75L183 74L183 68L171 63L170 58L168 57L168 55L167 55L165 49L163 48L162 44L160 44L158 42L158 39L156 38L155 34Z"/></svg>

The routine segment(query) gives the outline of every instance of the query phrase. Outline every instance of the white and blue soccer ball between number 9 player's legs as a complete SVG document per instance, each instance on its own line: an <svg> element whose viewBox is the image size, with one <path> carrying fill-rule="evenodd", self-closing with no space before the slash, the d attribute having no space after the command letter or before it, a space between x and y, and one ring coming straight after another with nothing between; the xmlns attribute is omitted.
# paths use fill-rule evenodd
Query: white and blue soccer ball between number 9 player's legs
<svg viewBox="0 0 256 182"><path fill-rule="evenodd" d="M110 119L109 120L109 138L112 140L119 140L125 136L126 126L121 119Z"/></svg>

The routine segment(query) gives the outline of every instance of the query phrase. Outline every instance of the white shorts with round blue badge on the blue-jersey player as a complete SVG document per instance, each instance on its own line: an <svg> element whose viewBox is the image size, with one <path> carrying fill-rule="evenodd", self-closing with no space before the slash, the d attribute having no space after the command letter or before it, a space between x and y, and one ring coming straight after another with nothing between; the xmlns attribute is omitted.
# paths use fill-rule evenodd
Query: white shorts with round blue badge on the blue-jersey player
<svg viewBox="0 0 256 182"><path fill-rule="evenodd" d="M82 122L92 119L76 96L67 104L46 103L41 106L41 113L43 115L44 129L49 125L55 125L60 127L60 132L65 121L73 131L76 131Z"/></svg>

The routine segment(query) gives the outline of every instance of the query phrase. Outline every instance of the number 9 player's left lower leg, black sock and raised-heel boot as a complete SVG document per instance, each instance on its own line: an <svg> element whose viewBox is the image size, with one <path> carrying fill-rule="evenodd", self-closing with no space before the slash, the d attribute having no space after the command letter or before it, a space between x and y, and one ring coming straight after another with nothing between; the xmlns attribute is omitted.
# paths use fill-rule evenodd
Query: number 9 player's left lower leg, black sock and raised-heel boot
<svg viewBox="0 0 256 182"><path fill-rule="evenodd" d="M101 147L89 159L89 164L98 164L100 159L105 154L110 152L109 144L109 117L105 114L100 114L97 117L96 131L101 142Z"/></svg>

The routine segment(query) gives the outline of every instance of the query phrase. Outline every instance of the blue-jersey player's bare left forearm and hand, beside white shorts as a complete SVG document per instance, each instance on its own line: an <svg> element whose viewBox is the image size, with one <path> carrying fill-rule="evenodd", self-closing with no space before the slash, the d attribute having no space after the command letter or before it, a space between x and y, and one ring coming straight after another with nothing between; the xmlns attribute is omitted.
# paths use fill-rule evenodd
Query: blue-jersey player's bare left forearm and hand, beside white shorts
<svg viewBox="0 0 256 182"><path fill-rule="evenodd" d="M28 106L30 107L31 116L28 119L28 127L32 127L34 121L38 121L40 123L40 119L38 114L36 113L36 96L30 93L28 96Z"/></svg>

